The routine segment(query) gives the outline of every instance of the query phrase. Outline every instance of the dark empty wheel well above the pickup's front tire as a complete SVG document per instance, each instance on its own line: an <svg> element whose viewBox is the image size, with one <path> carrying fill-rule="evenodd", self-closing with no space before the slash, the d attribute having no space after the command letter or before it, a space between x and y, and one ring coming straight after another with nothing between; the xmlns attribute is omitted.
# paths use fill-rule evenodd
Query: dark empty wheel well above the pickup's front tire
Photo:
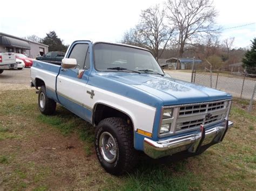
<svg viewBox="0 0 256 191"><path fill-rule="evenodd" d="M125 122L127 122L127 124L133 127L133 122L129 115L125 114L123 111L112 108L109 105L97 104L93 111L94 111L93 118L92 118L93 125L98 125L98 123L105 118L120 117L124 119Z"/></svg>

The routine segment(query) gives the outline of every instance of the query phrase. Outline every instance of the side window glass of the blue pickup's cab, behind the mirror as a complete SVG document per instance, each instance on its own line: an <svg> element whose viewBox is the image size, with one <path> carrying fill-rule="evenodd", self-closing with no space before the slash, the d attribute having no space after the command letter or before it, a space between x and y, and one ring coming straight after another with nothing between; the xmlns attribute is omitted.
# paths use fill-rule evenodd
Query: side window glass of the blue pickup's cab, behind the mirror
<svg viewBox="0 0 256 191"><path fill-rule="evenodd" d="M80 69L84 69L85 58L87 50L89 48L88 44L76 44L69 55L69 58L75 58ZM86 67L87 68L87 67Z"/></svg>

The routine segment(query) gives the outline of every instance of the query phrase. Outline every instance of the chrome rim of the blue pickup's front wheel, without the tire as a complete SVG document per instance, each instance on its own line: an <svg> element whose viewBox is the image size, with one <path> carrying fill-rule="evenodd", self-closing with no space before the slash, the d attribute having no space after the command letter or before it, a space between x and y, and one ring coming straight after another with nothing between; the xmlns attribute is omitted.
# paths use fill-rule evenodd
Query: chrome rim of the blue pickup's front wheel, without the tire
<svg viewBox="0 0 256 191"><path fill-rule="evenodd" d="M109 132L103 132L99 137L99 148L105 161L113 163L117 158L117 144Z"/></svg>

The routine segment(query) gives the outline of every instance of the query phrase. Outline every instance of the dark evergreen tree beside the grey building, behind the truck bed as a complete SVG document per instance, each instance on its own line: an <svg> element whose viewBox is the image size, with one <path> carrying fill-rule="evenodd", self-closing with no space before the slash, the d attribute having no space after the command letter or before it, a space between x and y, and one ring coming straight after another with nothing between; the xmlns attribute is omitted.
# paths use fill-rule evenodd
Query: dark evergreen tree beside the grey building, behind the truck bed
<svg viewBox="0 0 256 191"><path fill-rule="evenodd" d="M63 44L63 40L61 40L55 31L50 31L49 33L46 33L46 37L43 38L42 44L49 46L49 52L51 51L60 51L60 52L66 52L68 47Z"/></svg>

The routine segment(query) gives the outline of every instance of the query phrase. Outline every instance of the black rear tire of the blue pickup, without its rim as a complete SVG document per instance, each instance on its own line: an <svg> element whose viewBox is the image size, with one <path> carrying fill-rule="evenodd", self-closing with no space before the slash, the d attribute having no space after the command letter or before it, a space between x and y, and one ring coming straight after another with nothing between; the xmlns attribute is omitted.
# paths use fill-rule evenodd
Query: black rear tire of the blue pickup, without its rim
<svg viewBox="0 0 256 191"><path fill-rule="evenodd" d="M43 94L43 95L41 95L41 94ZM41 96L44 96L44 98L45 98L44 105L42 105L40 103ZM39 106L39 110L44 115L52 115L56 110L56 102L47 97L45 86L42 86L39 90L38 106Z"/></svg>

